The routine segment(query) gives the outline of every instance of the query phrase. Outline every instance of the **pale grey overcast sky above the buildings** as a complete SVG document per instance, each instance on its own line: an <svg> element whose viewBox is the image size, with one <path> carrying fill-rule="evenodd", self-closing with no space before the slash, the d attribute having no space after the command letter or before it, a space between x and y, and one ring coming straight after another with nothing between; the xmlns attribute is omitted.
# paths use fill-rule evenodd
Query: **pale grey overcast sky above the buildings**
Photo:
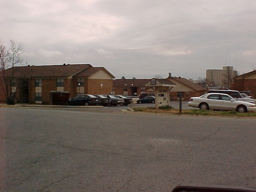
<svg viewBox="0 0 256 192"><path fill-rule="evenodd" d="M0 0L0 38L30 65L104 66L116 78L198 79L256 69L255 0Z"/></svg>

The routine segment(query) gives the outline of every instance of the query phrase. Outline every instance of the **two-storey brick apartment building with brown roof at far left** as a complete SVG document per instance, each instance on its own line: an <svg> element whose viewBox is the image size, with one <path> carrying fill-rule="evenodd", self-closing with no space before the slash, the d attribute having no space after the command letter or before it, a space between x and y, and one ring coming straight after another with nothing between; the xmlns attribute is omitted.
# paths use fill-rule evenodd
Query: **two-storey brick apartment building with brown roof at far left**
<svg viewBox="0 0 256 192"><path fill-rule="evenodd" d="M55 93L110 94L115 78L104 67L91 64L14 67L12 94L17 103L52 104ZM6 70L11 76L12 68ZM6 102L0 88L0 102Z"/></svg>

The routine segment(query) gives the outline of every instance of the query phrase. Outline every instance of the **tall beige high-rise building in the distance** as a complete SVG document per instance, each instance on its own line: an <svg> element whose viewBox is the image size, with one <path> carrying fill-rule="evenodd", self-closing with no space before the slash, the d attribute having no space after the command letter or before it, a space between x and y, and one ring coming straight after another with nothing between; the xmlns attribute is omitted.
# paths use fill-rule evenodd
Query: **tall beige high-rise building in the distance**
<svg viewBox="0 0 256 192"><path fill-rule="evenodd" d="M206 70L206 84L208 87L228 87L232 79L237 76L233 66L223 66L222 69Z"/></svg>

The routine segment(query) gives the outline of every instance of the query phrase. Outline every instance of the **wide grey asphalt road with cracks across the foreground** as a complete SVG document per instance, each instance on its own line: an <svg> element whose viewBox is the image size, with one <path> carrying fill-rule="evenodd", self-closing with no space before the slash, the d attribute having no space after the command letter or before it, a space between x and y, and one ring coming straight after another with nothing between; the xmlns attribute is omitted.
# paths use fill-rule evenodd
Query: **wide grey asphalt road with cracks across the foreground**
<svg viewBox="0 0 256 192"><path fill-rule="evenodd" d="M255 119L0 108L0 191L256 188Z"/></svg>

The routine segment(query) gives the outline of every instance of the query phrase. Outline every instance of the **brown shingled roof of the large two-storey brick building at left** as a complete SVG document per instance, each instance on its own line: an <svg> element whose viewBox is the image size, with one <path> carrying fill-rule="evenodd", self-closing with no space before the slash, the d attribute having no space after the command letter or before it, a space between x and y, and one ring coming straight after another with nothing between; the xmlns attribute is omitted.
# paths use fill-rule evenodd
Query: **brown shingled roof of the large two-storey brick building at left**
<svg viewBox="0 0 256 192"><path fill-rule="evenodd" d="M19 66L14 67L15 78L50 78L50 77L73 77L90 76L99 70L108 72L104 67L93 67L91 64L63 64L43 66ZM12 74L12 68L6 70L6 76ZM110 74L114 78L112 74Z"/></svg>

